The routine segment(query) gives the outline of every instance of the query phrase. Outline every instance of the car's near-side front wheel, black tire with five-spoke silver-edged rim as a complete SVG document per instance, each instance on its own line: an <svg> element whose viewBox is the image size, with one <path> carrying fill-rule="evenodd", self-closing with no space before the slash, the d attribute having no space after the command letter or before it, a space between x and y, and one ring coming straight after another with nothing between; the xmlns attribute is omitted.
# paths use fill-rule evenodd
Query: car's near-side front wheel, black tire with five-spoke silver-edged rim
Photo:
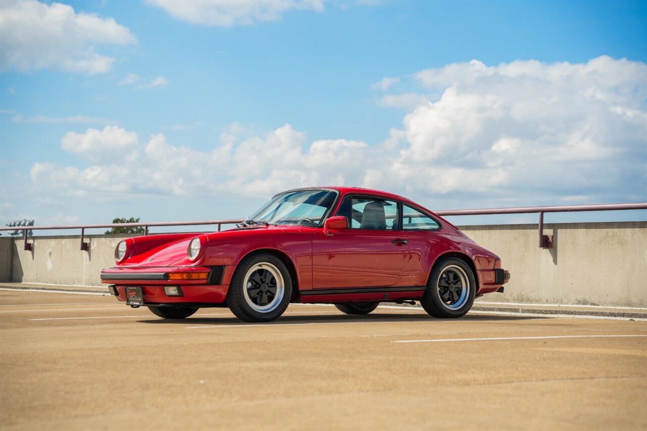
<svg viewBox="0 0 647 431"><path fill-rule="evenodd" d="M227 306L246 322L271 322L287 308L292 279L283 261L269 253L251 255L238 264L227 293Z"/></svg>

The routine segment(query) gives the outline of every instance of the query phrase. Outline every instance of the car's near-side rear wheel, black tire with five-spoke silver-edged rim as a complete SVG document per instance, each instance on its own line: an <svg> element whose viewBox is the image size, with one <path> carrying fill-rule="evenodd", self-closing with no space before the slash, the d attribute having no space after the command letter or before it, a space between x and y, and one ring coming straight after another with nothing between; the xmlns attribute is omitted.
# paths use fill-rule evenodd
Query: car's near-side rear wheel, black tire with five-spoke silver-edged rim
<svg viewBox="0 0 647 431"><path fill-rule="evenodd" d="M475 294L476 278L470 266L450 257L433 267L420 302L433 317L455 319L470 311Z"/></svg>

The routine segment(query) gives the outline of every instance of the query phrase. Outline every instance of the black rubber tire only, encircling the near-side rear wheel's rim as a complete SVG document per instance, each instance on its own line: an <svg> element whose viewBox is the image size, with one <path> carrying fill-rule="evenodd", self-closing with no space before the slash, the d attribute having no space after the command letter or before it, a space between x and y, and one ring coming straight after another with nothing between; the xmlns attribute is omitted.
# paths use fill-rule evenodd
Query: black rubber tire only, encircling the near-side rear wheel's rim
<svg viewBox="0 0 647 431"><path fill-rule="evenodd" d="M463 269L470 284L467 299L461 308L448 308L441 299L438 291L438 282L441 274L450 266L458 266ZM422 306L428 313L435 317L462 317L470 311L472 304L474 304L476 288L477 285L474 271L472 271L472 268L470 268L464 260L459 258L445 258L433 267L432 273L429 277L429 282L427 283L427 289L424 291L424 295L422 297Z"/></svg>

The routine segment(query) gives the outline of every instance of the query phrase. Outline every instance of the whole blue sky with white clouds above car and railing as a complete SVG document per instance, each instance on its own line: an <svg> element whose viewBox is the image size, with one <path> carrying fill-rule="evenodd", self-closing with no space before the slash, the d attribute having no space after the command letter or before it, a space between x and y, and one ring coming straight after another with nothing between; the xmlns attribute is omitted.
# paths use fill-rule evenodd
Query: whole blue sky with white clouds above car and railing
<svg viewBox="0 0 647 431"><path fill-rule="evenodd" d="M647 201L644 1L3 1L0 40L3 225Z"/></svg>

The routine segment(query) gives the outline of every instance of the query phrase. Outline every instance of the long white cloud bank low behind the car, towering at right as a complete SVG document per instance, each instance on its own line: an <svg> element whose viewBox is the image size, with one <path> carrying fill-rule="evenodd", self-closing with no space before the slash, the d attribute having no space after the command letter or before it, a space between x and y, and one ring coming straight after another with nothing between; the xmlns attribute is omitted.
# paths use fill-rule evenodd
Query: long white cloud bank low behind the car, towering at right
<svg viewBox="0 0 647 431"><path fill-rule="evenodd" d="M379 145L309 142L289 124L258 132L234 123L210 151L195 151L164 134L139 143L135 132L109 126L63 138L65 149L89 158L85 169L37 163L32 180L95 199L268 196L337 184L443 199L445 208L647 200L644 63L472 62L415 77L426 91L444 85L442 96L417 95Z"/></svg>

